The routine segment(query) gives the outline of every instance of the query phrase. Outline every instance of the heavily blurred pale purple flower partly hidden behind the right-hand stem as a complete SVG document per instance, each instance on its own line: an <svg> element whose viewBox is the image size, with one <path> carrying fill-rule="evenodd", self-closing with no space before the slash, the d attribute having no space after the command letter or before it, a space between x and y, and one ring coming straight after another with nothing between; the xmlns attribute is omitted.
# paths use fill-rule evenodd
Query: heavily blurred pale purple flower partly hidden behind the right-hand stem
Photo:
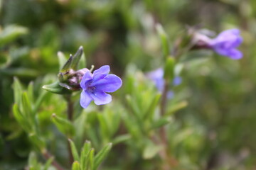
<svg viewBox="0 0 256 170"><path fill-rule="evenodd" d="M154 82L154 84L156 85L156 89L158 89L161 92L164 91L164 69L159 68L152 72L149 72L148 74L146 74L146 77L148 77ZM174 86L178 86L179 84L181 84L181 81L181 77L175 77L172 83L174 84ZM173 96L172 91L169 91L169 94Z"/></svg>

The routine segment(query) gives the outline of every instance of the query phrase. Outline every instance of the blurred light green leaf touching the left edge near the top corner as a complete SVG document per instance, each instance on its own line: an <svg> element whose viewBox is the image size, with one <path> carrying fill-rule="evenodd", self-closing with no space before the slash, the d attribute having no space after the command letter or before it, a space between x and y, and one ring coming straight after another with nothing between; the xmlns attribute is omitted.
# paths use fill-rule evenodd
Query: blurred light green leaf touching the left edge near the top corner
<svg viewBox="0 0 256 170"><path fill-rule="evenodd" d="M27 34L28 29L23 26L10 25L6 26L4 30L0 32L0 46L4 45L12 40L15 40L21 35Z"/></svg>

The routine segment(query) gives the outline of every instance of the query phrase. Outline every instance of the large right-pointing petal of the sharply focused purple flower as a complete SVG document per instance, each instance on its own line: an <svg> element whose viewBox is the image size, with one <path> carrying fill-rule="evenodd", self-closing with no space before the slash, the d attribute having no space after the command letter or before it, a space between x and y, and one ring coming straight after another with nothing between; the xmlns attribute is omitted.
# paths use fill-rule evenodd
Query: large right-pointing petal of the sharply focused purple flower
<svg viewBox="0 0 256 170"><path fill-rule="evenodd" d="M111 93L122 86L122 79L114 74L109 74L104 79L94 81L92 86L95 86L97 91L105 91Z"/></svg>

